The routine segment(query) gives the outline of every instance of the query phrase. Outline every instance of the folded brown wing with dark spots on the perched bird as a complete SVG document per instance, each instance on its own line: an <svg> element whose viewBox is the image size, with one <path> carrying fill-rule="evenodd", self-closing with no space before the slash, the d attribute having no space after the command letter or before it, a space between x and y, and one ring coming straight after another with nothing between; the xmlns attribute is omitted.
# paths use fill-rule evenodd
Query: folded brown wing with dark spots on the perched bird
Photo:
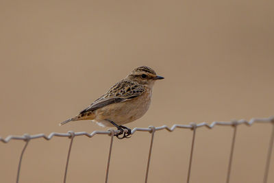
<svg viewBox="0 0 274 183"><path fill-rule="evenodd" d="M143 86L134 84L128 80L122 80L121 82L112 86L112 88L108 90L108 93L105 93L105 95L91 103L88 108L82 110L80 114L89 111L92 112L112 103L120 103L129 99L134 99L135 97L142 95L144 92L145 88Z"/></svg>

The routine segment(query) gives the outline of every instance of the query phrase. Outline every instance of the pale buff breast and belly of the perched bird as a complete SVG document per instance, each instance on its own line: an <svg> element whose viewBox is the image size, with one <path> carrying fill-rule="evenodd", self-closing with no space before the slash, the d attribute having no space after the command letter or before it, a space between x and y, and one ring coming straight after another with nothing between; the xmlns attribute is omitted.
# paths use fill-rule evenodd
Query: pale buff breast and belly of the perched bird
<svg viewBox="0 0 274 183"><path fill-rule="evenodd" d="M102 126L113 126L109 121L113 121L117 125L123 125L135 121L142 117L151 103L152 91L148 91L132 100L124 101L121 103L112 103L109 106L98 109L95 114L96 117L93 121Z"/></svg>

